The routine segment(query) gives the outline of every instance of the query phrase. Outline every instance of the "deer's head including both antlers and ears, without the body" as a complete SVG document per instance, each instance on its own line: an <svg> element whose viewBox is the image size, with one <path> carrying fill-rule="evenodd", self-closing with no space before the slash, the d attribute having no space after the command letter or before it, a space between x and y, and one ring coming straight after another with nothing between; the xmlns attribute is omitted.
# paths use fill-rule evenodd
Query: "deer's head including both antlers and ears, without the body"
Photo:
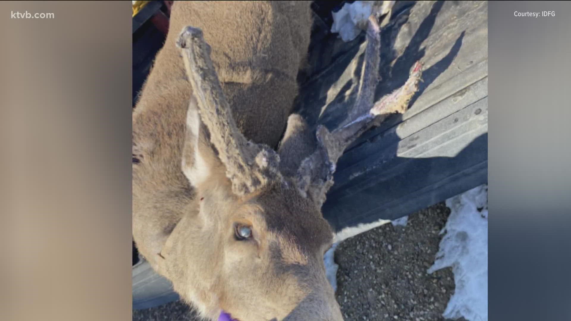
<svg viewBox="0 0 571 321"><path fill-rule="evenodd" d="M290 117L278 152L238 130L202 31L186 27L177 45L194 92L182 170L196 195L160 256L175 290L202 314L242 321L343 320L325 276L333 231L321 215L337 159L361 133L401 112L420 65L395 93L374 102L380 30L369 19L363 83L347 121L316 133Z"/></svg>

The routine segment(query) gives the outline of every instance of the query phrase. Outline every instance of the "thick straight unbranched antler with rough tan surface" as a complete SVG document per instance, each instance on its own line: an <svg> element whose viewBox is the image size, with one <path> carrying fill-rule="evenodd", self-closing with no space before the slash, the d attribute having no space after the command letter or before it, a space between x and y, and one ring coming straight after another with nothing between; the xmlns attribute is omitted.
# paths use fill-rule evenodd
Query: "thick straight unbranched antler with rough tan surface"
<svg viewBox="0 0 571 321"><path fill-rule="evenodd" d="M188 80L198 101L200 118L210 131L210 141L226 166L232 190L244 195L281 179L279 156L265 145L248 141L238 130L210 59L210 46L202 30L186 27L176 46L182 49Z"/></svg>

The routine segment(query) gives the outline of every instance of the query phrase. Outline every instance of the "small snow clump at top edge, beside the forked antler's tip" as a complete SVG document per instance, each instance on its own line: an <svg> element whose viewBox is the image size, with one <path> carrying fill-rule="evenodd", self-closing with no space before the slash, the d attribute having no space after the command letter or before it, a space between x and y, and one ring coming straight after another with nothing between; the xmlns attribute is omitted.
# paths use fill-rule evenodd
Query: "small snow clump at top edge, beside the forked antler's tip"
<svg viewBox="0 0 571 321"><path fill-rule="evenodd" d="M331 13L333 15L332 33L339 33L344 42L352 41L367 26L367 19L371 15L375 1L355 1L345 3L341 10Z"/></svg>

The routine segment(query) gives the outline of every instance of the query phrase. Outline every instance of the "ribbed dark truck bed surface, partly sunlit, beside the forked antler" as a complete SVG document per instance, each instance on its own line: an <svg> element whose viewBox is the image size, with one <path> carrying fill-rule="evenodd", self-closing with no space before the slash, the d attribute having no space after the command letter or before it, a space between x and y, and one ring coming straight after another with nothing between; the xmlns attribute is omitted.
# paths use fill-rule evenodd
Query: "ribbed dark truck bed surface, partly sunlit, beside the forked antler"
<svg viewBox="0 0 571 321"><path fill-rule="evenodd" d="M395 13L381 35L377 97L400 87L419 59L423 82L404 115L365 133L339 160L323 206L337 231L400 218L487 182L487 10L485 1L420 1ZM364 48L363 34L312 48L319 71L299 99L312 123L332 129L343 121Z"/></svg>

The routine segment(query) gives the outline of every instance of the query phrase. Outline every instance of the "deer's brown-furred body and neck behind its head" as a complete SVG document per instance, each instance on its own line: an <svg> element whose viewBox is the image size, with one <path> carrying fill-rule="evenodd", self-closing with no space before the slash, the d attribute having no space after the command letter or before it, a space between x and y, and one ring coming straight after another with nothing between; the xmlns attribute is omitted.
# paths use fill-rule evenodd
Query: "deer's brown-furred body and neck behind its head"
<svg viewBox="0 0 571 321"><path fill-rule="evenodd" d="M181 171L192 95L175 41L188 25L203 30L246 138L278 145L297 95L296 75L311 32L309 1L177 1L170 31L133 113L133 235L151 265L176 223L195 212ZM174 275L169 278L176 278Z"/></svg>

